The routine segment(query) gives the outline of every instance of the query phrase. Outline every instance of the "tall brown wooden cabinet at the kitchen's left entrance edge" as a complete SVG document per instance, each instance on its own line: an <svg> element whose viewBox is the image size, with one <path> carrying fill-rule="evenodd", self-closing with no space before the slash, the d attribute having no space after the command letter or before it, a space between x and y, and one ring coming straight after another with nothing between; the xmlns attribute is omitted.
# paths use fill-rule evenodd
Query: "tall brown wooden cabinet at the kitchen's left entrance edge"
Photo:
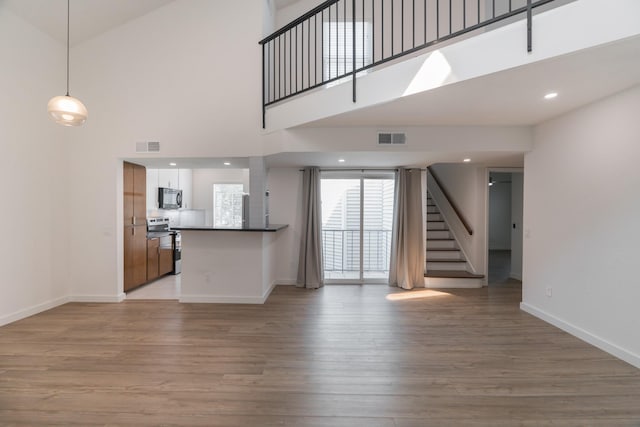
<svg viewBox="0 0 640 427"><path fill-rule="evenodd" d="M123 164L124 290L147 281L147 171Z"/></svg>

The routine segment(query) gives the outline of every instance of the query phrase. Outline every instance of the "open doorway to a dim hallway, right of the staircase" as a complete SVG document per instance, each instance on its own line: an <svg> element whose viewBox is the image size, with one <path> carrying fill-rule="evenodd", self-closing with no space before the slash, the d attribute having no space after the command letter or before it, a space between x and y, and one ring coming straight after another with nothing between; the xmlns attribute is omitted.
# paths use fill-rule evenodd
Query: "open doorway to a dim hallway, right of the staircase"
<svg viewBox="0 0 640 427"><path fill-rule="evenodd" d="M489 171L487 283L522 281L522 170Z"/></svg>

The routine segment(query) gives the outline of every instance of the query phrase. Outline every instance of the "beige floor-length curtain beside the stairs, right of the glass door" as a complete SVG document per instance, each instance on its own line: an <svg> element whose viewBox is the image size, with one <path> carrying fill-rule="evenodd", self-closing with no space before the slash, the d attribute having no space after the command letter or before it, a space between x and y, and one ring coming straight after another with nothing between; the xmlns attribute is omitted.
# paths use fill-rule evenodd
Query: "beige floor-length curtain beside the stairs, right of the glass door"
<svg viewBox="0 0 640 427"><path fill-rule="evenodd" d="M389 285L424 287L425 242L420 169L400 168L396 177Z"/></svg>

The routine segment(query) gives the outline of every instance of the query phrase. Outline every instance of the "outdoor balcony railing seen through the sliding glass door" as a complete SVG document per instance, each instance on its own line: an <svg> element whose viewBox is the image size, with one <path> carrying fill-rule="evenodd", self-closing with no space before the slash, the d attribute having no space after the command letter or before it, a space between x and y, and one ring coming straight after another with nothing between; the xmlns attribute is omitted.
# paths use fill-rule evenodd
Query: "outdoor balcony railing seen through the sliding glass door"
<svg viewBox="0 0 640 427"><path fill-rule="evenodd" d="M360 271L360 230L322 230L324 271ZM363 271L388 271L391 230L364 230Z"/></svg>

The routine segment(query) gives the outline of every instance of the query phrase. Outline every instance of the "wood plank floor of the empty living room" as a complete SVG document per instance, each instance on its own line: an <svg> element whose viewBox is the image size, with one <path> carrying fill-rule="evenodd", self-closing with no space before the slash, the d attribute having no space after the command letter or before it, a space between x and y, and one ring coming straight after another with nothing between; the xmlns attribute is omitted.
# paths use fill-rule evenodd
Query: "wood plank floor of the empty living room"
<svg viewBox="0 0 640 427"><path fill-rule="evenodd" d="M520 293L67 304L0 328L0 425L640 426L640 370Z"/></svg>

